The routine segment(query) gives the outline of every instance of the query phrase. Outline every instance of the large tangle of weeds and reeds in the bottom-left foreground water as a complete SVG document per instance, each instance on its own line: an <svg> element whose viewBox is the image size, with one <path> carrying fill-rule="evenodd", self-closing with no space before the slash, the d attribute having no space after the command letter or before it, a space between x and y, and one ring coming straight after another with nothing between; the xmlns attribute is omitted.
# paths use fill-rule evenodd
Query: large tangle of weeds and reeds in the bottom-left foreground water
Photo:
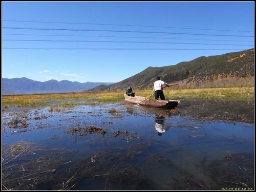
<svg viewBox="0 0 256 192"><path fill-rule="evenodd" d="M152 184L136 169L138 162L125 163L124 160L136 159L136 154L144 151L146 146L133 146L128 151L112 148L73 162L66 160L65 156L71 151L64 148L40 148L26 141L6 145L3 150L3 189L70 190L76 189L76 185L84 190L144 189Z"/></svg>

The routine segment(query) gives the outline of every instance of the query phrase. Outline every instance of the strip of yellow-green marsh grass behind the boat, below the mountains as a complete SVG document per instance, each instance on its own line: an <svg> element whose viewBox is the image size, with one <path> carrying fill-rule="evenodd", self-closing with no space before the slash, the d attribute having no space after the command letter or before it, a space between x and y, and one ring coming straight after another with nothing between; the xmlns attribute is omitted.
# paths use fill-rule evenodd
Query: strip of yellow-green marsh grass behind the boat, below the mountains
<svg viewBox="0 0 256 192"><path fill-rule="evenodd" d="M153 94L152 90L134 90L136 95L148 97ZM96 105L99 103L121 102L124 100L125 91L105 92L77 92L55 94L30 94L30 95L2 95L2 106L18 105L27 107L38 106L61 106ZM209 88L209 89L164 89L166 98L194 98L209 99L223 98L229 100L254 100L254 87L251 88ZM154 98L154 96L152 96Z"/></svg>

